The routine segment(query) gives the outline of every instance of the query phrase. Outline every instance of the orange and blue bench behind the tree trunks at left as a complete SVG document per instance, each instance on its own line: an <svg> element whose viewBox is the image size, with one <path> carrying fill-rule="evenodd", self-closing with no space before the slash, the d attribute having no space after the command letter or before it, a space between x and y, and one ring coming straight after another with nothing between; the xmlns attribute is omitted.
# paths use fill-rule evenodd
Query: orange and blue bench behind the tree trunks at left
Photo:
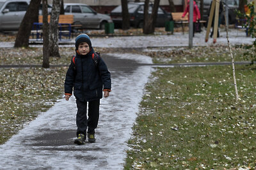
<svg viewBox="0 0 256 170"><path fill-rule="evenodd" d="M51 20L51 15L48 15L48 22ZM38 22L34 22L33 30L31 31L32 36L36 35L36 41L42 40L42 25L43 25L43 16L38 16ZM60 15L59 22L59 41L62 41L62 37L68 37L70 39L73 29L81 29L82 25L74 24L73 15Z"/></svg>

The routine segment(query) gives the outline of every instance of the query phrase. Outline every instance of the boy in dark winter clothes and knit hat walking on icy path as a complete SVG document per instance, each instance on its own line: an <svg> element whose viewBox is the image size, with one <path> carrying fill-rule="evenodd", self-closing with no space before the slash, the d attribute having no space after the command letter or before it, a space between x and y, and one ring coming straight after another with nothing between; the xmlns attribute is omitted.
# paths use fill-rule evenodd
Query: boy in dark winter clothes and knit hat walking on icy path
<svg viewBox="0 0 256 170"><path fill-rule="evenodd" d="M102 98L109 96L111 91L111 76L104 60L95 53L92 42L87 34L76 38L76 57L71 60L65 79L65 99L74 96L77 104L77 145L83 145L86 139L95 142L95 129L99 121L99 106ZM88 118L87 118L88 104Z"/></svg>

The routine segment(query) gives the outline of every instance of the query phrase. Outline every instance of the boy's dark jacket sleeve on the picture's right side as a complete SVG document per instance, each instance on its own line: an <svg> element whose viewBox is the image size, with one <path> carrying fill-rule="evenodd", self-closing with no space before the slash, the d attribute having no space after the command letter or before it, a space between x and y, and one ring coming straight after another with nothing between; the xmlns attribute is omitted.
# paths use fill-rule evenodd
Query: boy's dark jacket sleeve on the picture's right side
<svg viewBox="0 0 256 170"><path fill-rule="evenodd" d="M111 74L108 71L108 67L104 60L100 57L99 60L99 71L103 81L103 90L111 91Z"/></svg>

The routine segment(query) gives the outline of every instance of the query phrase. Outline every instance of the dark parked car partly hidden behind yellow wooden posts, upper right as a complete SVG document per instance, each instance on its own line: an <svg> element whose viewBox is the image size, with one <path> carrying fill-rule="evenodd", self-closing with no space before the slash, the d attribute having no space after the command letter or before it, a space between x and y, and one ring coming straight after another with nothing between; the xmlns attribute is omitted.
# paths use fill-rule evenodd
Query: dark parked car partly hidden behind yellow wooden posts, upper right
<svg viewBox="0 0 256 170"><path fill-rule="evenodd" d="M211 6L212 0L204 0L204 9L203 9L203 18L202 20L208 20L209 18L209 11ZM225 2L225 0L224 0ZM224 3L224 8L226 4ZM228 24L235 24L236 22L236 10L239 7L239 0L227 0L227 6L228 6ZM224 13L221 13L221 24L225 24L225 16Z"/></svg>

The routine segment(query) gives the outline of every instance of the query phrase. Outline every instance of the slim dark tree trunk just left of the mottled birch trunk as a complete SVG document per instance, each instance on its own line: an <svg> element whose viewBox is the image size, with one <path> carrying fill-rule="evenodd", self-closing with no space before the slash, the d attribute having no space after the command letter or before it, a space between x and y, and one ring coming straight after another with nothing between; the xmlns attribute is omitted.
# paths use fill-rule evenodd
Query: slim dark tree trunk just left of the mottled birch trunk
<svg viewBox="0 0 256 170"><path fill-rule="evenodd" d="M42 0L43 3L43 67L49 68L49 24L48 24L48 10L47 0Z"/></svg>

